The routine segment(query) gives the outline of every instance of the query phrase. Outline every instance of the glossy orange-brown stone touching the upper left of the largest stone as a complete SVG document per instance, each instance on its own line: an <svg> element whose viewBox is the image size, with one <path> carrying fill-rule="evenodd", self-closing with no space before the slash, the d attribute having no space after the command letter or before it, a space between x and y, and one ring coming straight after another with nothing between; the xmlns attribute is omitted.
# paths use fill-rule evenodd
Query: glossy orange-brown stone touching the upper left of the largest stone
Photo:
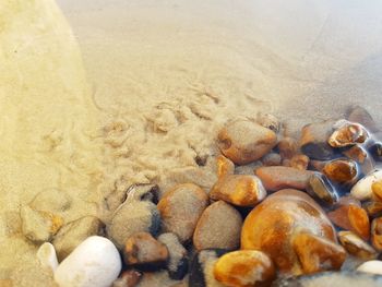
<svg viewBox="0 0 382 287"><path fill-rule="evenodd" d="M231 175L219 179L211 189L210 198L238 206L254 206L266 196L266 190L255 176Z"/></svg>

